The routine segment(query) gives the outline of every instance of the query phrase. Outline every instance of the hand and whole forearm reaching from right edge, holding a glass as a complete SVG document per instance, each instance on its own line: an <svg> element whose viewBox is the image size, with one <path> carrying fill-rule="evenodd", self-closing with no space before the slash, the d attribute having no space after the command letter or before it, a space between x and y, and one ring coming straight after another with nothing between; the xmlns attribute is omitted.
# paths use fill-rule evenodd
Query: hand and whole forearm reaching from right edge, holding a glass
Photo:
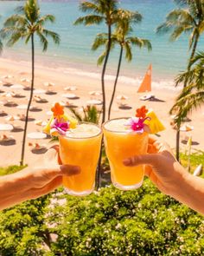
<svg viewBox="0 0 204 256"><path fill-rule="evenodd" d="M154 137L149 139L148 153L125 159L124 165L134 167L145 164L145 175L163 194L204 214L204 179L189 174L175 160L169 145Z"/></svg>

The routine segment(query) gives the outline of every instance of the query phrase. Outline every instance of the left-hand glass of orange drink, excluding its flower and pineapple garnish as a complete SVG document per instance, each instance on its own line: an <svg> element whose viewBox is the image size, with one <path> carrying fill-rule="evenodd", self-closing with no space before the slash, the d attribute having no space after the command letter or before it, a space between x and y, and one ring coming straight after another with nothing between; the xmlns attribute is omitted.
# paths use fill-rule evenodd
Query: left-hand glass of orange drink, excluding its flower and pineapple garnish
<svg viewBox="0 0 204 256"><path fill-rule="evenodd" d="M80 174L63 177L67 194L83 196L92 193L101 139L99 126L88 122L80 122L66 135L59 136L62 163L80 166Z"/></svg>

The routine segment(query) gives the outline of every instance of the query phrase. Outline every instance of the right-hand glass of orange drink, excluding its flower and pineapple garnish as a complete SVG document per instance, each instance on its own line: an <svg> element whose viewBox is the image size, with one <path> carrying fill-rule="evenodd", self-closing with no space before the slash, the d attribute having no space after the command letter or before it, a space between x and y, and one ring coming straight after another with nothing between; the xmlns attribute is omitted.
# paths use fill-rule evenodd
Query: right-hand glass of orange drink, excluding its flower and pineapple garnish
<svg viewBox="0 0 204 256"><path fill-rule="evenodd" d="M131 190L143 184L143 166L125 167L123 160L136 154L146 154L148 133L127 130L128 118L106 121L103 125L105 152L112 174L112 184L122 190Z"/></svg>

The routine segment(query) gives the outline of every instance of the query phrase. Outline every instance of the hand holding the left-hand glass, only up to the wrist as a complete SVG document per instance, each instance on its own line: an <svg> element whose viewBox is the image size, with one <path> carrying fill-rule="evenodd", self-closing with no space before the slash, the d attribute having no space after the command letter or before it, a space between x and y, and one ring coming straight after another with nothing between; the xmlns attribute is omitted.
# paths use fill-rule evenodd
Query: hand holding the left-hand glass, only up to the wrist
<svg viewBox="0 0 204 256"><path fill-rule="evenodd" d="M39 165L39 161L37 162ZM48 194L62 185L62 176L72 176L80 173L80 167L61 165L59 147L54 146L44 154L44 163L40 167L26 167L16 173L21 179L21 192L23 200L35 199Z"/></svg>

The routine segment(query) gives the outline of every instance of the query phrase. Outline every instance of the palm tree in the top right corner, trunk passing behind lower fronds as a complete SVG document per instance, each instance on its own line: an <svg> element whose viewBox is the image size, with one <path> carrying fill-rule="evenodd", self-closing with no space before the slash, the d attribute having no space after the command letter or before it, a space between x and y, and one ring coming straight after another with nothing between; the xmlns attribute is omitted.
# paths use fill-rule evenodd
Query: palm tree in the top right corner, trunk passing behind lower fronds
<svg viewBox="0 0 204 256"><path fill-rule="evenodd" d="M167 33L172 31L170 41L177 40L182 34L187 33L189 36L189 50L191 50L188 59L187 71L190 70L191 60L199 42L201 34L204 32L204 0L174 0L178 8L169 12L166 21L157 29L157 33ZM183 88L188 84L187 80L183 81ZM176 132L176 159L179 161L179 144L180 144L180 126L177 123Z"/></svg>

